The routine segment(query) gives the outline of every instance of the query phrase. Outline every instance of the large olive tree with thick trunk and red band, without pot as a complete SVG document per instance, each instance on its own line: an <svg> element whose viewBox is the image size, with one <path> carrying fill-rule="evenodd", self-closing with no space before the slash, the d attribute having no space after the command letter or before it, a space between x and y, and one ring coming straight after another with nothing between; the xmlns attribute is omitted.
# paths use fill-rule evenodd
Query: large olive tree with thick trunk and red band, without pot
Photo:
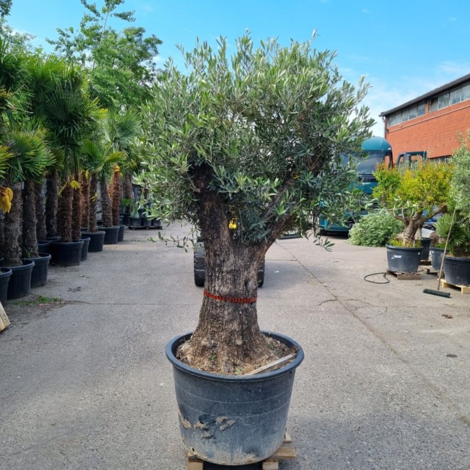
<svg viewBox="0 0 470 470"><path fill-rule="evenodd" d="M258 265L282 233L307 235L320 210L349 208L357 173L341 161L370 135L358 107L368 86L344 81L335 52L311 41L255 49L245 35L231 58L223 38L182 52L187 73L170 60L142 110L146 171L135 182L155 215L188 220L204 240L204 300L179 358L246 371L273 357L257 321Z"/></svg>

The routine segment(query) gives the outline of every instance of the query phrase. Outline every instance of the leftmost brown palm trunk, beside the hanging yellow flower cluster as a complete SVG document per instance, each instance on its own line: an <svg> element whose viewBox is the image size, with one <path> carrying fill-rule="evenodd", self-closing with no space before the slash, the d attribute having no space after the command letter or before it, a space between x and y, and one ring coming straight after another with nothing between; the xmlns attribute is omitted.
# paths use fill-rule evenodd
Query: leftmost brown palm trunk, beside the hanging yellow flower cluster
<svg viewBox="0 0 470 470"><path fill-rule="evenodd" d="M6 184L13 191L13 199L11 200L11 209L5 214L5 258L3 264L5 266L21 266L23 263L20 259L21 248L21 220L23 211L23 195L22 184Z"/></svg>

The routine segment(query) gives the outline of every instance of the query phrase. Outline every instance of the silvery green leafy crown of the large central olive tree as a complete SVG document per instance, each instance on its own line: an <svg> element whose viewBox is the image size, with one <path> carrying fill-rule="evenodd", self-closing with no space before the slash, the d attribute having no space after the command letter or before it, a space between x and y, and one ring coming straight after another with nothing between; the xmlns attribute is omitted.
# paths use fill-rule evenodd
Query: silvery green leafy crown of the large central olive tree
<svg viewBox="0 0 470 470"><path fill-rule="evenodd" d="M272 39L255 49L248 34L231 58L224 38L182 52L187 72L170 60L142 110L146 169L134 182L157 215L198 226L203 167L244 243L306 235L320 207L331 222L356 209L354 159L342 165L341 155L360 154L373 120L359 107L368 85L344 81L335 52Z"/></svg>

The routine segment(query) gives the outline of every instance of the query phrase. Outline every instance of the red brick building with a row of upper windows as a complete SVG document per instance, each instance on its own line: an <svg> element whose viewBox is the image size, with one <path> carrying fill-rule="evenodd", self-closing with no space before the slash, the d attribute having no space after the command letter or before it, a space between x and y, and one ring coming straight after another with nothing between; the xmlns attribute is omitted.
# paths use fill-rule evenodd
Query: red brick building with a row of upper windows
<svg viewBox="0 0 470 470"><path fill-rule="evenodd" d="M445 159L459 146L457 133L470 129L470 74L380 116L394 160L402 152L419 150L427 151L428 158Z"/></svg>

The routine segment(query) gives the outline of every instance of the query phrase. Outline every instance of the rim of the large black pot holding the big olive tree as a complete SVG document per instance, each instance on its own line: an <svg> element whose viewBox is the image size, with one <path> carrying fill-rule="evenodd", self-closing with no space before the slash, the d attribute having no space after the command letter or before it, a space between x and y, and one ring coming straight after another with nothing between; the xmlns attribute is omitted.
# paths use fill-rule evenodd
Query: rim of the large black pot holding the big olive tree
<svg viewBox="0 0 470 470"><path fill-rule="evenodd" d="M289 345L289 347L292 347L292 346L297 347L298 348L297 357L290 364L287 364L281 369L277 369L271 372L265 372L263 374L257 374L255 376L231 376L231 375L222 375L222 374L212 374L211 372L205 372L205 371L196 369L194 367L189 367L188 365L184 364L179 359L177 359L172 351L173 345L181 342L182 340L188 340L192 335L192 331L188 331L187 333L180 334L172 338L166 345L166 350L165 350L166 357L171 362L173 367L176 367L180 371L186 372L187 374L190 374L193 376L198 376L198 377L205 378L207 380L214 380L217 382L258 382L261 380L271 379L271 378L282 376L284 374L288 374L289 372L292 372L304 360L304 350L299 345L299 343L294 341L292 338L289 338L289 336L285 336L281 333L276 333L273 331L266 331L263 329L261 330L261 333L263 333L265 336L271 336L281 341L282 343Z"/></svg>

